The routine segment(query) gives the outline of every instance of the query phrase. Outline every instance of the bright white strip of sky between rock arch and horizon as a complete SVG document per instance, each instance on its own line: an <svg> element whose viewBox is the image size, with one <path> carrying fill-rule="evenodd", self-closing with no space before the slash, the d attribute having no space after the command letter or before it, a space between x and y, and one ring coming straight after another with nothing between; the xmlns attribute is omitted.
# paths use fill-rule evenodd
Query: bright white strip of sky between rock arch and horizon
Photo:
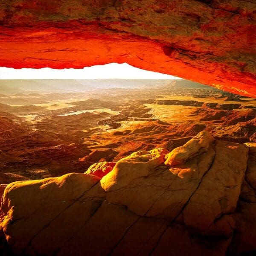
<svg viewBox="0 0 256 256"><path fill-rule="evenodd" d="M0 67L0 79L180 79L162 73L141 70L127 63L110 63L83 69L22 68L20 70Z"/></svg>

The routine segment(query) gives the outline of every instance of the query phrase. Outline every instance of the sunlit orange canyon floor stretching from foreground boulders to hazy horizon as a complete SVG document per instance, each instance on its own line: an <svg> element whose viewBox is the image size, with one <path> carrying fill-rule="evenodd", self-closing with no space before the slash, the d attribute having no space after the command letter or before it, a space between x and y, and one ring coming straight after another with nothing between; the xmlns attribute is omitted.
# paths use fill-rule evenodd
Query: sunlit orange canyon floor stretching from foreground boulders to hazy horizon
<svg viewBox="0 0 256 256"><path fill-rule="evenodd" d="M186 80L120 80L113 88L97 88L111 81L91 81L79 92L67 91L71 82L65 80L55 91L39 84L42 92L31 85L18 90L22 83L15 80L5 83L0 183L84 172L139 150L172 150L204 129L218 140L256 142L256 99Z"/></svg>

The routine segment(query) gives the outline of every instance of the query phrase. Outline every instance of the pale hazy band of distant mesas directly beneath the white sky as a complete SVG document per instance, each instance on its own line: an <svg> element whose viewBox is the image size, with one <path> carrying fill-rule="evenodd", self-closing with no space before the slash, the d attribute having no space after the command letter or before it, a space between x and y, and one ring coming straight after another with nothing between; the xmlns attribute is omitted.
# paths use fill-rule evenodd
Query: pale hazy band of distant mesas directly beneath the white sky
<svg viewBox="0 0 256 256"><path fill-rule="evenodd" d="M99 89L209 88L185 79L1 79L0 94L77 93Z"/></svg>

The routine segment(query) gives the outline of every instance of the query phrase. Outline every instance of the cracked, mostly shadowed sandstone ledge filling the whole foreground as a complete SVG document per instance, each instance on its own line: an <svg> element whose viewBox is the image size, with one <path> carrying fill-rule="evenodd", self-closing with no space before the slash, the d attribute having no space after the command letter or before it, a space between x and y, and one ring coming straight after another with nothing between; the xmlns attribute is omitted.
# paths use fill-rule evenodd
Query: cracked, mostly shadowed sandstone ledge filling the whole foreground
<svg viewBox="0 0 256 256"><path fill-rule="evenodd" d="M167 154L164 148L135 152L102 179L71 173L9 184L1 203L9 247L59 256L256 250L256 196L249 200L245 188L256 185L255 145L216 140L176 166L164 163Z"/></svg>

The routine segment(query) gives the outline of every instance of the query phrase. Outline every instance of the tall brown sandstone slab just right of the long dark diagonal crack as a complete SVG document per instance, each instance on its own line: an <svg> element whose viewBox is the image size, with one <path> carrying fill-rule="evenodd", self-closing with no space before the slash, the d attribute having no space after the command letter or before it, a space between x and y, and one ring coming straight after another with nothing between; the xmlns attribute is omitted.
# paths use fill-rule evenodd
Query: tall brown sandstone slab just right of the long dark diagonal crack
<svg viewBox="0 0 256 256"><path fill-rule="evenodd" d="M217 141L215 152L214 162L183 210L183 217L186 226L207 235L227 232L225 235L229 236L235 227L232 213L244 179L248 149L245 145ZM208 207L204 207L206 204Z"/></svg>

